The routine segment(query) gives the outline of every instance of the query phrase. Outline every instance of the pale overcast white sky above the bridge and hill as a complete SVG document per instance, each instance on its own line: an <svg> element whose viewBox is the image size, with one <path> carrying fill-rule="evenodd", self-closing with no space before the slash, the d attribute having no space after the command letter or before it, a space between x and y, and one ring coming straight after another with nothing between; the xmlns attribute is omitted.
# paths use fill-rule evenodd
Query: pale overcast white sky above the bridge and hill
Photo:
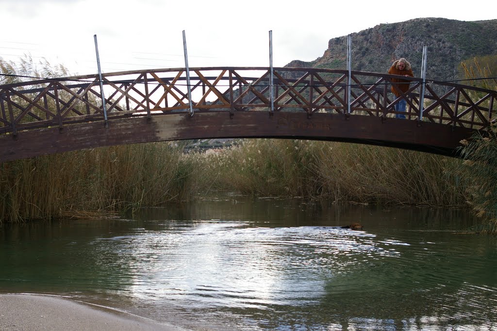
<svg viewBox="0 0 497 331"><path fill-rule="evenodd" d="M185 67L273 66L323 56L331 38L421 17L497 19L472 1L0 0L0 57L46 59L71 74ZM352 40L353 42L353 40Z"/></svg>

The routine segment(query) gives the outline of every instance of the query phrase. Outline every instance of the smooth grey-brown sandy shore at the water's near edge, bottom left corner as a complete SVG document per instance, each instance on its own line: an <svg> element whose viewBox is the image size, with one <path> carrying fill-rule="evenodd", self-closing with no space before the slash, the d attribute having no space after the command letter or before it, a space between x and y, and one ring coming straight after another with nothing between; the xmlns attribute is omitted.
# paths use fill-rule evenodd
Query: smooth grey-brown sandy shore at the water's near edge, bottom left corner
<svg viewBox="0 0 497 331"><path fill-rule="evenodd" d="M0 294L2 331L185 331L117 310L51 295Z"/></svg>

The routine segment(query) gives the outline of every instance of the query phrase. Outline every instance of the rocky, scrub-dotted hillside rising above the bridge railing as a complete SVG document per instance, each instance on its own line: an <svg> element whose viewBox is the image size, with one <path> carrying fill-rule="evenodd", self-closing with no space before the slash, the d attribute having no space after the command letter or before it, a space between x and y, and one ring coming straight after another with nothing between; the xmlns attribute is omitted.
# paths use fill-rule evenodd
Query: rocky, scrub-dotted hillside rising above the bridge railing
<svg viewBox="0 0 497 331"><path fill-rule="evenodd" d="M467 22L416 18L380 24L351 37L352 70L386 72L394 60L406 58L419 77L423 45L427 45L426 77L433 80L457 79L462 61L497 55L497 19ZM286 66L346 69L346 49L347 36L333 38L322 57L312 62L296 60Z"/></svg>

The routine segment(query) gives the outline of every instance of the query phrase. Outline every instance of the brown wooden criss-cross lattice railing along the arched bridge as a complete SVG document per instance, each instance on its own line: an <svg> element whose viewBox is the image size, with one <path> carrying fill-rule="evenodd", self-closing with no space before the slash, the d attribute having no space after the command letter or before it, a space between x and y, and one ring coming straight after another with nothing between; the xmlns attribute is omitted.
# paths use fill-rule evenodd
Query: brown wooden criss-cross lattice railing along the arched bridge
<svg viewBox="0 0 497 331"><path fill-rule="evenodd" d="M190 86L184 68L105 73L103 96L97 75L0 85L0 134L103 123L102 99L108 120L220 111L230 116L246 111L306 112L309 117L321 112L386 120L395 117L394 105L400 99L407 101L407 120L420 123L480 130L496 120L493 90L429 81L421 98L422 80L406 77L410 88L397 98L390 92L394 75L352 71L348 81L346 70L280 67L273 72L271 81L267 67L191 68Z"/></svg>

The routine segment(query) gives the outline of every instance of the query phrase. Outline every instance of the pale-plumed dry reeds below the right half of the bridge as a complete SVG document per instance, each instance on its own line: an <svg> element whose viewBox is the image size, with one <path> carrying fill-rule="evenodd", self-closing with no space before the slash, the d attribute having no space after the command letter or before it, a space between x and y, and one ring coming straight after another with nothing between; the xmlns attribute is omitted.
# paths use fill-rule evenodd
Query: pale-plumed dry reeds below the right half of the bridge
<svg viewBox="0 0 497 331"><path fill-rule="evenodd" d="M461 161L427 153L350 143L245 140L209 156L219 190L336 202L432 206L466 204Z"/></svg>

